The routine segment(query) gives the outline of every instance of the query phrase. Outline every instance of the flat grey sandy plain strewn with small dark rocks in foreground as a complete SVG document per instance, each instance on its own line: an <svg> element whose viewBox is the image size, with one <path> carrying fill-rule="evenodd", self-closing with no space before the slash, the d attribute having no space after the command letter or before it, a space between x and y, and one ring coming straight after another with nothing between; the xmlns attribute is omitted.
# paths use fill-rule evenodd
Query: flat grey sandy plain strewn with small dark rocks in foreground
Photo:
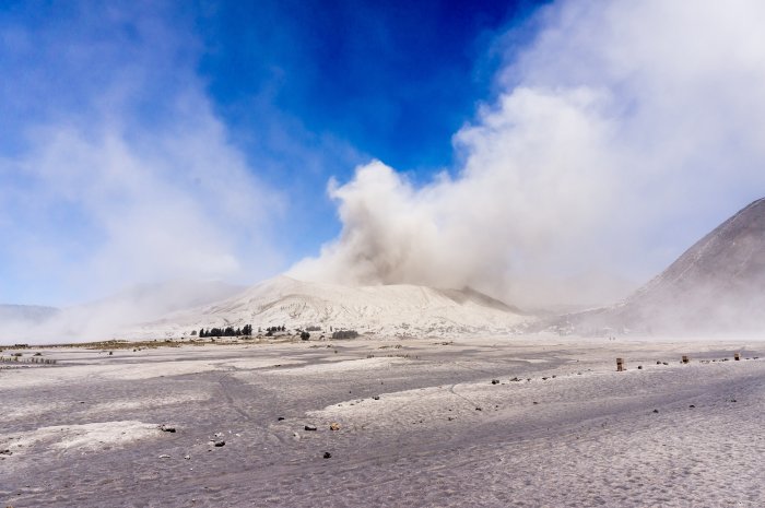
<svg viewBox="0 0 765 508"><path fill-rule="evenodd" d="M36 351L0 364L0 507L765 506L763 342Z"/></svg>

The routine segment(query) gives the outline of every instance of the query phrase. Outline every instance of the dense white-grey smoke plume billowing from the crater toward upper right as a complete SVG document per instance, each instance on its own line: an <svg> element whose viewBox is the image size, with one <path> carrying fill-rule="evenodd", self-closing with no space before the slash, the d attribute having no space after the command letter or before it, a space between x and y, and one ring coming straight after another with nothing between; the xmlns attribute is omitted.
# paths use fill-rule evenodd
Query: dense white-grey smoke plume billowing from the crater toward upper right
<svg viewBox="0 0 765 508"><path fill-rule="evenodd" d="M342 233L292 273L525 305L623 296L765 193L764 21L756 0L543 9L504 92L456 133L462 165L416 186L375 161L331 182Z"/></svg>

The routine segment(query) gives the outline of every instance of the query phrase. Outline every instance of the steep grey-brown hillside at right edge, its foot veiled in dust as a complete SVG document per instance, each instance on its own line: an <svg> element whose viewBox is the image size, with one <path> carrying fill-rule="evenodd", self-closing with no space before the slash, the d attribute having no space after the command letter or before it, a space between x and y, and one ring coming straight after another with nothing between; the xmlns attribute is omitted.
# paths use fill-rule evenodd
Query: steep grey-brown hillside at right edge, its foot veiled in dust
<svg viewBox="0 0 765 508"><path fill-rule="evenodd" d="M624 302L565 316L555 326L585 334L765 332L765 199L727 220Z"/></svg>

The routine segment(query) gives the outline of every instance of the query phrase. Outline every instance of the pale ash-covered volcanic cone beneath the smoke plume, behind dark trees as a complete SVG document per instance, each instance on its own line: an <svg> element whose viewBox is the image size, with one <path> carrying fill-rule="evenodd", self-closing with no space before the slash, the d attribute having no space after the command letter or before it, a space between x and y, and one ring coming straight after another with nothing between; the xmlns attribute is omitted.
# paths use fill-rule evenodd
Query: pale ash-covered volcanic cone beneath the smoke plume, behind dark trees
<svg viewBox="0 0 765 508"><path fill-rule="evenodd" d="M515 329L519 311L472 290L415 285L349 287L307 283L287 276L257 284L215 305L176 312L133 330L131 335L179 336L210 327L255 329L321 327L360 333L448 334Z"/></svg>

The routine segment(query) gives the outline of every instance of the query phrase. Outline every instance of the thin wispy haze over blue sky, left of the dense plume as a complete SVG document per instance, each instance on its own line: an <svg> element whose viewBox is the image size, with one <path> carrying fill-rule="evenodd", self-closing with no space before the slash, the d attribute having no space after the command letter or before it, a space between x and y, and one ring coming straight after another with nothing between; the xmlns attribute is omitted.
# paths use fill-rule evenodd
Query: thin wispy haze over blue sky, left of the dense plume
<svg viewBox="0 0 765 508"><path fill-rule="evenodd" d="M190 20L149 4L48 9L42 26L0 24L13 76L0 99L0 299L273 273L284 197L215 116Z"/></svg>

